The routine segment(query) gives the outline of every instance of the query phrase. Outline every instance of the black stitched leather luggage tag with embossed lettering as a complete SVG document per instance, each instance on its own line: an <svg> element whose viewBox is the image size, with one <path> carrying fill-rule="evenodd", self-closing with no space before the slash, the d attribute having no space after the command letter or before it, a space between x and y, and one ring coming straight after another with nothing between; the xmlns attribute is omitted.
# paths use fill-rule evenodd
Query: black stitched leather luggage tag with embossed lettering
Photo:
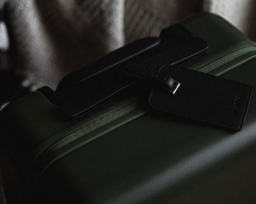
<svg viewBox="0 0 256 204"><path fill-rule="evenodd" d="M154 87L151 107L187 118L241 131L249 106L252 87L190 69L163 66L160 74L178 81L175 94Z"/></svg>

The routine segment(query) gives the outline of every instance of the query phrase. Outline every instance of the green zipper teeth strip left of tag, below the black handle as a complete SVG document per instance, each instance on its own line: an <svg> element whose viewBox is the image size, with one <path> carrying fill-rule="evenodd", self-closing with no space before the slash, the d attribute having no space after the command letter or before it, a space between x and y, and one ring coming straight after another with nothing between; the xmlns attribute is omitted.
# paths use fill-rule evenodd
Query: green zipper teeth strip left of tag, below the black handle
<svg viewBox="0 0 256 204"><path fill-rule="evenodd" d="M126 115L130 112L132 112L133 110L135 110L138 107L138 104L140 102L137 101L133 101L129 104L126 104L125 106L122 106L120 108L117 108L111 112L108 112L98 118L95 118L94 120L91 120L90 122L84 124L81 128L79 128L78 130L75 130L74 132L72 132L71 134L66 135L65 137L63 137L62 139L58 140L57 142L55 142L53 145L51 145L46 151L44 151L42 155L48 156L49 154L53 153L54 151L56 151L57 149L68 145L70 142L75 141L76 139L122 117L123 115Z"/></svg>

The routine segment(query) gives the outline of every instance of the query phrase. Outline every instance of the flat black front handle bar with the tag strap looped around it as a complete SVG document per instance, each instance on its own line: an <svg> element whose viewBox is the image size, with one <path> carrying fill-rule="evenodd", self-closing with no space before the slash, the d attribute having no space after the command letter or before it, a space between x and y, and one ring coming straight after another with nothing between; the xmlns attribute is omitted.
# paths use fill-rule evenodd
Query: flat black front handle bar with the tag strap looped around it
<svg viewBox="0 0 256 204"><path fill-rule="evenodd" d="M193 58L197 58L198 56L206 53L207 49L208 44L203 39L193 38L182 42L177 46L168 49L166 48L164 51L155 53L153 56L138 60L136 64L138 64L138 67L146 66L147 70L158 70L164 64L176 65L188 62ZM81 90L75 90L79 92L78 95L60 104L60 109L62 113L64 113L65 117L68 120L79 118L82 115L105 105L111 100L111 97L121 91L128 89L132 85L137 86L139 81L145 81L145 76L139 76L139 73L137 73L137 77L130 77L131 73L129 74L127 72L126 66L129 62L130 61L121 63L118 67L102 72L91 80L85 81L82 86L79 86L78 89ZM135 76L135 73L133 73L133 75ZM160 74L154 76L153 81L150 83L151 85L160 84L161 86L166 87L166 89L175 92L172 88L177 86L177 84L173 83L171 78L169 80L170 83L167 84L164 83L163 80L161 81L161 78L164 77ZM146 79L148 79L148 77ZM143 86L146 85L143 84Z"/></svg>

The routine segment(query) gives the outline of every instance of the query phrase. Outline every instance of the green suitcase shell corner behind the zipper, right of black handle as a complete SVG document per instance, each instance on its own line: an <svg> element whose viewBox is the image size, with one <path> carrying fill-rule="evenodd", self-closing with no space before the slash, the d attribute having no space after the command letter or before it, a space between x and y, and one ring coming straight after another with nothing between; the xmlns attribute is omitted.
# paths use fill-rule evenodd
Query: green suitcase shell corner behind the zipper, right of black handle
<svg viewBox="0 0 256 204"><path fill-rule="evenodd" d="M256 46L256 43L248 39L234 26L226 22L222 17L210 13L199 13L180 22L183 27L188 29L194 37L201 37L207 41L209 50L207 55L204 55L196 60L185 65L190 69L198 69L199 67L212 62L234 52L238 49ZM240 60L248 61L251 57L255 57L256 52L249 52L247 57ZM213 70L210 74L219 75L228 70L237 67L237 62L230 62L221 69Z"/></svg>

